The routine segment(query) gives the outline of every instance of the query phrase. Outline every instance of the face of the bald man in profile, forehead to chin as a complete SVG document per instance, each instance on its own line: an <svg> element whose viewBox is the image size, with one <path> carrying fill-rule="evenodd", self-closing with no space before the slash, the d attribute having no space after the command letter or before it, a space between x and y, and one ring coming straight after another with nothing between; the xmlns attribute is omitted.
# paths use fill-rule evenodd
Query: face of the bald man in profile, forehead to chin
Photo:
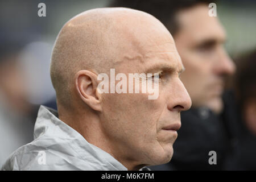
<svg viewBox="0 0 256 182"><path fill-rule="evenodd" d="M180 111L189 109L191 99L179 78L183 65L170 33L146 35L140 41L133 42L139 48L123 53L115 75L125 73L128 78L128 73L159 73L158 98L148 100L149 94L141 92L105 94L101 117L115 146L112 154L116 159L135 166L163 164L172 157L175 130L181 125Z"/></svg>

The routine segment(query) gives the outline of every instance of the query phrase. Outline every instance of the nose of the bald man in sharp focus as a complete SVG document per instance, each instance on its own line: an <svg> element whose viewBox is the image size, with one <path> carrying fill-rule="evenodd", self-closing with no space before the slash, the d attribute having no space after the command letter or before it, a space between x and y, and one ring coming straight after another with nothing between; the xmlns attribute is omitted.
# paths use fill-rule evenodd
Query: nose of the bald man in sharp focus
<svg viewBox="0 0 256 182"><path fill-rule="evenodd" d="M177 78L176 84L172 85L172 92L170 93L171 96L168 100L168 110L174 111L185 111L190 109L191 107L191 98L181 82L180 78Z"/></svg>

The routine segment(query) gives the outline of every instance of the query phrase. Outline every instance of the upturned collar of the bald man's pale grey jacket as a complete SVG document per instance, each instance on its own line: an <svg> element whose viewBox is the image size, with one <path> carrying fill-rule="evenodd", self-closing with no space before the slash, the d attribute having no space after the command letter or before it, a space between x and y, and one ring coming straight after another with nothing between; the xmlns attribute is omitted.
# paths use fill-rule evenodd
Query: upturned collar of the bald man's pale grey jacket
<svg viewBox="0 0 256 182"><path fill-rule="evenodd" d="M127 170L108 152L90 144L75 129L61 121L56 110L46 106L40 106L35 123L34 139L38 139L42 135L54 140L57 138L58 141L61 141L58 142L61 145L71 146L73 151L64 152L67 152L68 155L75 155L75 157L84 160L85 163L98 163L102 166L102 170ZM61 148L65 148L65 146L61 146Z"/></svg>

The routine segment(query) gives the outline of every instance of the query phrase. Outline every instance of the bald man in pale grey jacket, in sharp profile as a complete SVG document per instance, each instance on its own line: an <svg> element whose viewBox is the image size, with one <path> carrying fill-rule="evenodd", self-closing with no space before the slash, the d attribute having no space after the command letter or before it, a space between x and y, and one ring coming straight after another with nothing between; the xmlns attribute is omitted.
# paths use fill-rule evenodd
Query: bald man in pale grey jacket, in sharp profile
<svg viewBox="0 0 256 182"><path fill-rule="evenodd" d="M179 78L183 69L170 32L150 14L105 8L75 16L52 52L58 111L40 107L35 140L15 151L2 169L138 170L169 162L180 111L191 107ZM141 85L151 80L154 89L157 82L158 97L148 99L148 90L101 92L99 75L113 78L113 70L122 79L144 74L134 80ZM118 83L104 81L104 89ZM127 86L136 85L129 80Z"/></svg>

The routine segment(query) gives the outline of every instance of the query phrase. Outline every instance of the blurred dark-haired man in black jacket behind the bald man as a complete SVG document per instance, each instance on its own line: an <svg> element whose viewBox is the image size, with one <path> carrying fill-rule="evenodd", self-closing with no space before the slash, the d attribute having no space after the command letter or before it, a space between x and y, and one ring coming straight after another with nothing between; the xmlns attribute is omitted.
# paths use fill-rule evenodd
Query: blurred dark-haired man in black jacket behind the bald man
<svg viewBox="0 0 256 182"><path fill-rule="evenodd" d="M181 80L192 108L181 113L182 127L169 164L153 169L223 169L232 137L222 119L224 78L235 66L223 47L226 35L217 17L210 17L212 1L113 1L109 6L130 7L156 16L174 36L185 66ZM216 151L217 164L208 155Z"/></svg>

